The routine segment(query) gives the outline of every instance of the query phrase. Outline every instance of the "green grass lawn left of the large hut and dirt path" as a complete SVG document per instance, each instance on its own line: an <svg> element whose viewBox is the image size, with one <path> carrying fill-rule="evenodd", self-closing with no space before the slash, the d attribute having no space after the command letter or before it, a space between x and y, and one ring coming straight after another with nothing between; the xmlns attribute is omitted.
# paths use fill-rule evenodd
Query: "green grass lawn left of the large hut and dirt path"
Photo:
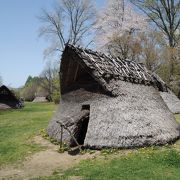
<svg viewBox="0 0 180 180"><path fill-rule="evenodd" d="M23 109L0 111L0 166L42 149L30 139L47 127L54 108L52 103L26 103Z"/></svg>

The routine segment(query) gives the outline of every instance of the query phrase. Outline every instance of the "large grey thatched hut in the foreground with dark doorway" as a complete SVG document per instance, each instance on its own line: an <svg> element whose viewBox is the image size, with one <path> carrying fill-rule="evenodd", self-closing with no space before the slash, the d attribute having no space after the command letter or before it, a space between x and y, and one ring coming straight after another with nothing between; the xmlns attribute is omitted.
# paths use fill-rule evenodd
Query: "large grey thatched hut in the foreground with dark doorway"
<svg viewBox="0 0 180 180"><path fill-rule="evenodd" d="M89 148L165 144L180 125L162 100L166 87L142 64L66 45L62 54L61 101L47 132L75 146L57 122ZM62 127L63 127L62 126Z"/></svg>

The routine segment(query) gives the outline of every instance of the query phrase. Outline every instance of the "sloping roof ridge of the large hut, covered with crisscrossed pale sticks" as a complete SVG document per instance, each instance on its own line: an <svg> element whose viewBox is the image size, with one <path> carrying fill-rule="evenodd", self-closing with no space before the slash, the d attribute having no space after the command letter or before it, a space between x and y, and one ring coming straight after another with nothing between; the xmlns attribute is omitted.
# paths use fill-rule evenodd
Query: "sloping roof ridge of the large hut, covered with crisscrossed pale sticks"
<svg viewBox="0 0 180 180"><path fill-rule="evenodd" d="M89 73L101 83L108 91L113 91L109 83L112 80L128 81L134 84L152 85L158 87L161 84L157 78L142 63L137 63L129 59L120 59L102 52L67 44L70 48L68 53L73 52L73 59L81 61L88 69ZM74 55L76 56L74 58Z"/></svg>

